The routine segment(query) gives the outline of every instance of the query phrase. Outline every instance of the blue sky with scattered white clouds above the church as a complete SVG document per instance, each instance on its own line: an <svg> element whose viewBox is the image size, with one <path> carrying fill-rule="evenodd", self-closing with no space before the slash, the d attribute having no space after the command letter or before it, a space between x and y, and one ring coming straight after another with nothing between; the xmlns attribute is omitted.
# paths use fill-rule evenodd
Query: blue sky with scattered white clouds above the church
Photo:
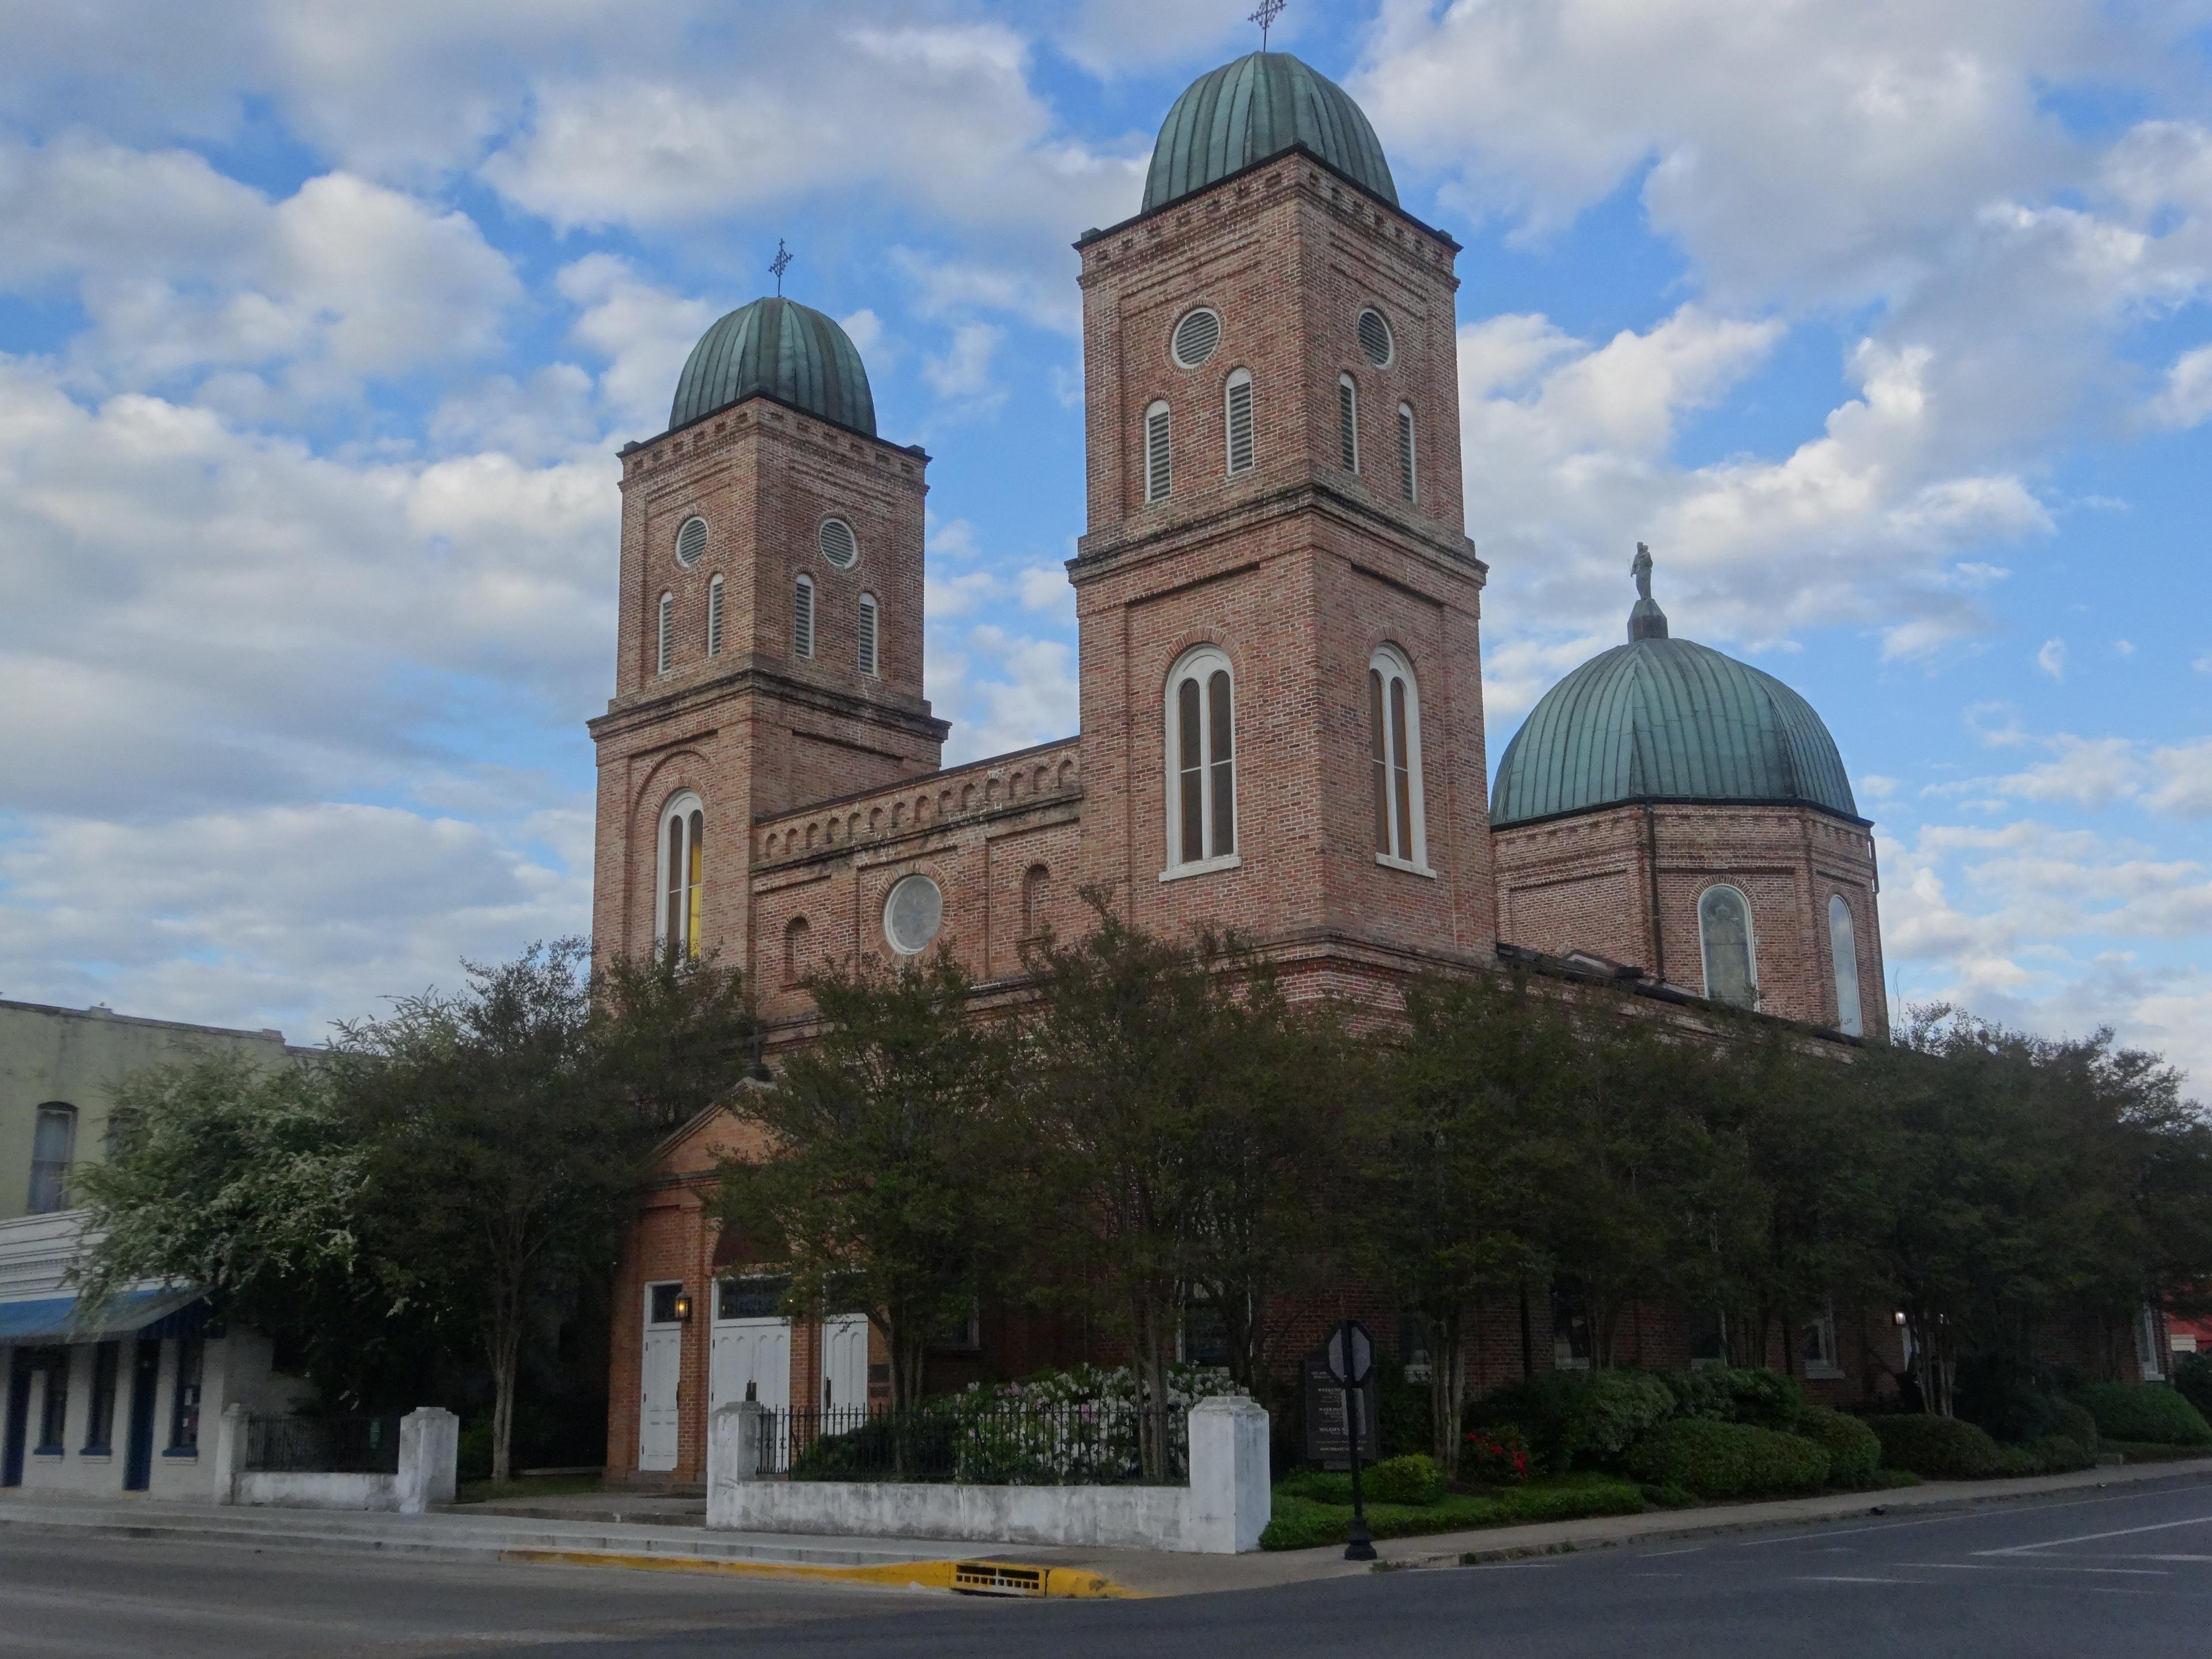
<svg viewBox="0 0 2212 1659"><path fill-rule="evenodd" d="M1245 11L0 0L0 998L312 1042L586 931L615 449L779 239L936 456L947 759L1073 732L1071 241ZM1834 730L1900 1004L2212 1077L2212 0L1274 44L1464 243L1491 754L1650 542Z"/></svg>

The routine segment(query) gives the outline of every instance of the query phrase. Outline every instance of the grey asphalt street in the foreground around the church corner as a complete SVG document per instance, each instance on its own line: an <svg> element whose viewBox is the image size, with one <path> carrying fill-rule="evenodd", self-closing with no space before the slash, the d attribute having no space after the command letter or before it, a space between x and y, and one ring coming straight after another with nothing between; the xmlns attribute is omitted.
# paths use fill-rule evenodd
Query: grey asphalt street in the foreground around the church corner
<svg viewBox="0 0 2212 1659"><path fill-rule="evenodd" d="M2084 1659L2203 1652L2208 1621L2197 1482L1155 1601L0 1537L4 1655Z"/></svg>

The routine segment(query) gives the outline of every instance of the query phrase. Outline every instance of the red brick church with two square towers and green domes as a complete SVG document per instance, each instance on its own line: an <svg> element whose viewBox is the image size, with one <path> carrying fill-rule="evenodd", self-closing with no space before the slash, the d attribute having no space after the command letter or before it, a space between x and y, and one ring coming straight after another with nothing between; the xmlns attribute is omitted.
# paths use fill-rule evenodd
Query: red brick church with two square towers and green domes
<svg viewBox="0 0 2212 1659"><path fill-rule="evenodd" d="M792 1042L821 962L945 949L1002 984L1104 887L1157 933L1234 925L1292 989L1387 1000L1517 956L1885 1033L1874 841L1834 739L1781 681L1674 639L1641 549L1626 644L1491 774L1460 248L1398 206L1340 86L1290 53L1203 75L1141 212L1075 250L1082 730L940 763L929 456L876 431L832 319L757 299L701 336L668 431L622 451L599 951L717 951ZM781 1283L701 1208L739 1133L690 1124L644 1199L615 1475L697 1480L723 1400L869 1396L865 1321L781 1318ZM951 1374L993 1369L984 1336Z"/></svg>

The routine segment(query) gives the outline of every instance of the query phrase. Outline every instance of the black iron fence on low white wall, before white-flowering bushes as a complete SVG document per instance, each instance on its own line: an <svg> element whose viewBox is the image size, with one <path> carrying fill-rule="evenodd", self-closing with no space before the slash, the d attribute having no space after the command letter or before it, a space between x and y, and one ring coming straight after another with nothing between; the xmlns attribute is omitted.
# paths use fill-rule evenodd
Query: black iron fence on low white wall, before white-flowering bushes
<svg viewBox="0 0 2212 1659"><path fill-rule="evenodd" d="M1166 1431L1161 1482L1190 1480L1188 1407L1166 1422L1128 1405L925 1402L902 1411L770 1411L763 1475L790 1480L960 1480L982 1486L1144 1482L1144 1438Z"/></svg>

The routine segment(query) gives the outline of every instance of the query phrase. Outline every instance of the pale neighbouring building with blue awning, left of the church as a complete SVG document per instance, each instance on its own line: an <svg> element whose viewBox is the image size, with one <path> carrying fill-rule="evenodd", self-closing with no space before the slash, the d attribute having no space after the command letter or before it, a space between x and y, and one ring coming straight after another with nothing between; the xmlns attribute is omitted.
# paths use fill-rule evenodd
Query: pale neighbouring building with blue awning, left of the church
<svg viewBox="0 0 2212 1659"><path fill-rule="evenodd" d="M71 1283L71 1175L108 1146L117 1084L210 1046L292 1053L279 1031L0 1002L0 1486L208 1498L223 1407L279 1411L301 1387L197 1290L133 1287L86 1323Z"/></svg>

